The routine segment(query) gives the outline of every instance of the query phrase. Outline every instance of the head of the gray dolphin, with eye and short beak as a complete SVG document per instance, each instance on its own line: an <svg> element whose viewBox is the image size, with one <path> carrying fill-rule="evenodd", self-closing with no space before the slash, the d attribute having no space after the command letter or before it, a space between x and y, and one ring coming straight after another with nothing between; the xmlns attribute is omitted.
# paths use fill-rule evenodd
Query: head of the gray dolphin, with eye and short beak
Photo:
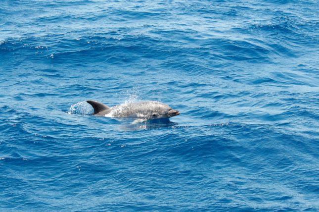
<svg viewBox="0 0 319 212"><path fill-rule="evenodd" d="M150 119L170 118L180 114L178 110L172 109L170 106L159 102L151 102L148 111L148 117Z"/></svg>

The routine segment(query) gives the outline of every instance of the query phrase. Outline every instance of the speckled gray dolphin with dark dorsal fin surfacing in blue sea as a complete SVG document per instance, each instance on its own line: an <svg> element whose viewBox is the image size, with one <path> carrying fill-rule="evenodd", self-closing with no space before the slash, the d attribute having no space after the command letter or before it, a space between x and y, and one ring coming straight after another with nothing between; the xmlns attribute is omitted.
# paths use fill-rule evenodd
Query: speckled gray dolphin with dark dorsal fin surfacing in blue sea
<svg viewBox="0 0 319 212"><path fill-rule="evenodd" d="M118 118L157 119L170 118L180 114L178 110L155 101L128 103L113 107L108 107L102 103L91 100L87 101L87 103L94 108L93 115L96 116L106 115Z"/></svg>

